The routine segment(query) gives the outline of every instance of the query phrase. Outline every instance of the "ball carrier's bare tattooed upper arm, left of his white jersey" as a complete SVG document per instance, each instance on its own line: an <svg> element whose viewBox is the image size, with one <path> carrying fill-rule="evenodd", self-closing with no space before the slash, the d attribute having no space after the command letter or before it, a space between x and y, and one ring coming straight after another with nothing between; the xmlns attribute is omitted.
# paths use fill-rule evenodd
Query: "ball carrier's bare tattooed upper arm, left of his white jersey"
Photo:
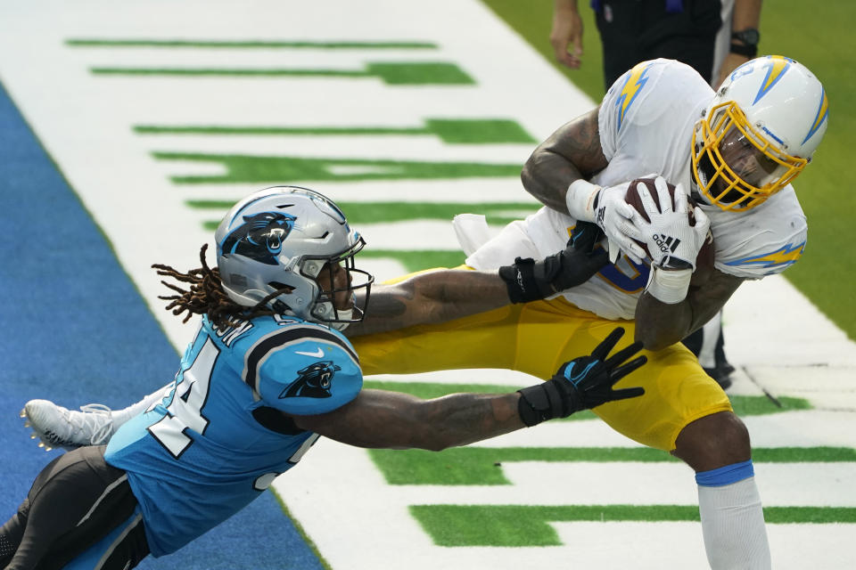
<svg viewBox="0 0 856 570"><path fill-rule="evenodd" d="M556 211L568 213L565 193L572 182L586 179L607 163L597 127L599 107L559 127L541 142L523 166L523 187Z"/></svg>

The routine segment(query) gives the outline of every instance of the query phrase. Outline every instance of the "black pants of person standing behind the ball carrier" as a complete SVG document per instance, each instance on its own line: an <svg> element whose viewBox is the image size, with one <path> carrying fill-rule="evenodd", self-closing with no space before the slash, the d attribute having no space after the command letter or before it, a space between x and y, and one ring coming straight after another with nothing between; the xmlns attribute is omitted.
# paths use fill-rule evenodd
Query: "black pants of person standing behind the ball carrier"
<svg viewBox="0 0 856 570"><path fill-rule="evenodd" d="M592 6L606 89L639 61L658 57L683 61L712 80L720 0L595 0Z"/></svg>

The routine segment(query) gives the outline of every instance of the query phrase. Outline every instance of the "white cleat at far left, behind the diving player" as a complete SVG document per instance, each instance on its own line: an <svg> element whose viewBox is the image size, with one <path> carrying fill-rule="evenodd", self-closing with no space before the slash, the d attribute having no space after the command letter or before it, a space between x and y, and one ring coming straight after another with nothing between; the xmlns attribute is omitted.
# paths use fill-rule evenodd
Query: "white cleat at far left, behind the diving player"
<svg viewBox="0 0 856 570"><path fill-rule="evenodd" d="M80 411L68 410L48 400L30 400L21 411L21 418L33 433L32 439L41 440L45 451L53 448L65 450L85 445L103 445L113 435L111 410L100 403L80 406Z"/></svg>

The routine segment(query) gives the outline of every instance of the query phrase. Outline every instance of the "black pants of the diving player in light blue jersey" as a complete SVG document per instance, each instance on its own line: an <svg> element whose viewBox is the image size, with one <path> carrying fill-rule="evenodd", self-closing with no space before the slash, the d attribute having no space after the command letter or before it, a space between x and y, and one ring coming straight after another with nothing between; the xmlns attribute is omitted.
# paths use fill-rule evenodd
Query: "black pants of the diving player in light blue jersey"
<svg viewBox="0 0 856 570"><path fill-rule="evenodd" d="M51 461L18 512L0 528L0 568L57 570L128 521L136 498L125 471L104 461L104 446ZM142 522L105 546L103 570L133 568L149 553Z"/></svg>

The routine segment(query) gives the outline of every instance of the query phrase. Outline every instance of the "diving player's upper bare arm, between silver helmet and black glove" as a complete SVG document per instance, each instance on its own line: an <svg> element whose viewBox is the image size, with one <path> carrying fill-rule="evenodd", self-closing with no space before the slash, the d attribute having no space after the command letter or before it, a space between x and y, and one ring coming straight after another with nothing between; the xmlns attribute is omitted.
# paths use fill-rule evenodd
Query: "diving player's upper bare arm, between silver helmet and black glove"
<svg viewBox="0 0 856 570"><path fill-rule="evenodd" d="M497 272L438 269L372 288L366 318L344 332L357 337L446 322L510 303L506 283Z"/></svg>

